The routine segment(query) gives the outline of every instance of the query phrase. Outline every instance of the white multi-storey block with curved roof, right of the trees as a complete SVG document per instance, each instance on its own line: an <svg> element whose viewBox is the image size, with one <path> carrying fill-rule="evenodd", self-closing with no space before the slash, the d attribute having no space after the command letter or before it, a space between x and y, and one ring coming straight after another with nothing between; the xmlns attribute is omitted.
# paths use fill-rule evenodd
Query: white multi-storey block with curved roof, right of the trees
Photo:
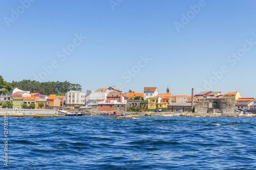
<svg viewBox="0 0 256 170"><path fill-rule="evenodd" d="M70 90L66 93L66 107L86 104L86 94L80 91Z"/></svg>

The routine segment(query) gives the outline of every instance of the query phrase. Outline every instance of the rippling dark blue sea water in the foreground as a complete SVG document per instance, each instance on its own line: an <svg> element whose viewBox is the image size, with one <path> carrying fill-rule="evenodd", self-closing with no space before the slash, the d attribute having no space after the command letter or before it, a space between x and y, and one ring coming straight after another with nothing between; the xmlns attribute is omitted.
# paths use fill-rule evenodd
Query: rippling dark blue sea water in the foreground
<svg viewBox="0 0 256 170"><path fill-rule="evenodd" d="M9 117L0 169L256 169L256 118L142 118Z"/></svg>

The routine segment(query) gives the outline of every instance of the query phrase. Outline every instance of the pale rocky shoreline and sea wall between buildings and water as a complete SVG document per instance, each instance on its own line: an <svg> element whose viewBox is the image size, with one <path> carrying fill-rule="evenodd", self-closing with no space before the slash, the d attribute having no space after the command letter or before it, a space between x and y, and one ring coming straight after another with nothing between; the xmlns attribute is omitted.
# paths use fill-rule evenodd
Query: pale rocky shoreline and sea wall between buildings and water
<svg viewBox="0 0 256 170"><path fill-rule="evenodd" d="M84 112L84 115L97 116L100 113L112 112ZM176 116L176 117L256 117L256 114L237 114L237 113L173 113L173 112L119 112L120 114L132 116ZM43 115L39 113L16 113L16 112L0 112L0 116L8 115L10 117L62 117L65 114ZM66 116L67 117L67 116Z"/></svg>

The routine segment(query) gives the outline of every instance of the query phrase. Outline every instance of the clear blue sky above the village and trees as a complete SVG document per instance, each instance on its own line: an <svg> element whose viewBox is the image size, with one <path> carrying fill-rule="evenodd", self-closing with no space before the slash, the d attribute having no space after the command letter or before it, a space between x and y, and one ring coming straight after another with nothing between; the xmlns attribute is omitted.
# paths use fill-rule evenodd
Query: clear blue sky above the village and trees
<svg viewBox="0 0 256 170"><path fill-rule="evenodd" d="M0 75L256 97L256 1L0 0Z"/></svg>

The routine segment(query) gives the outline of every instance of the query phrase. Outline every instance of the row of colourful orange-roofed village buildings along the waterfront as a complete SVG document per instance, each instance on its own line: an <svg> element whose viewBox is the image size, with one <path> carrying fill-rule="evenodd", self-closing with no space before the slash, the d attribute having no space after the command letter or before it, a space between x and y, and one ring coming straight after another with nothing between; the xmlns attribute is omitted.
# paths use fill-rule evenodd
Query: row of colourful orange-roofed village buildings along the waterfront
<svg viewBox="0 0 256 170"><path fill-rule="evenodd" d="M0 89L5 90L5 89ZM5 104L6 103L6 104ZM36 109L36 110L77 110L90 112L203 112L256 113L256 99L242 98L239 91L202 91L194 95L172 95L169 87L166 93L159 93L157 87L144 87L143 91L123 93L111 86L97 90L70 90L66 95L41 95L13 88L7 94L0 95L0 109Z"/></svg>

